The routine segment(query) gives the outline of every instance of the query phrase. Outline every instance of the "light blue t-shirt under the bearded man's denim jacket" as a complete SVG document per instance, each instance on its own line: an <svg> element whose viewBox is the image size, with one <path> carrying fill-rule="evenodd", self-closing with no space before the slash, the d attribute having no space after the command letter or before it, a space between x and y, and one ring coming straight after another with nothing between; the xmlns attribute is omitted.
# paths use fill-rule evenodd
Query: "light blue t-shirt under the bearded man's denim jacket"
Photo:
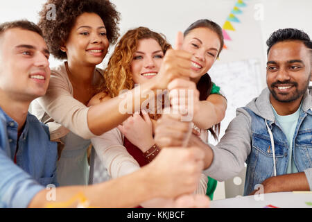
<svg viewBox="0 0 312 222"><path fill-rule="evenodd" d="M297 122L300 116L300 107L296 112L293 114L287 115L287 116L280 116L277 114L275 109L272 107L272 110L274 112L275 118L281 125L281 128L283 129L283 132L286 135L287 142L288 142L288 164L287 164L287 171L286 173L298 173L297 167L295 166L295 162L293 160L293 135L295 133L295 129L297 126Z"/></svg>

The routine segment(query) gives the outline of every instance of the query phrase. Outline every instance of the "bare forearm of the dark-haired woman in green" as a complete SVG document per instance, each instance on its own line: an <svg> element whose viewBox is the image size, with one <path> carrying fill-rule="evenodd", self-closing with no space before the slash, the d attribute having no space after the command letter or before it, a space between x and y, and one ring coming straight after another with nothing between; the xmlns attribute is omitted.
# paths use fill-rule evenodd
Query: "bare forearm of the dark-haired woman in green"
<svg viewBox="0 0 312 222"><path fill-rule="evenodd" d="M223 120L226 106L214 105L210 101L200 101L199 110L194 115L194 124L200 129L209 129Z"/></svg>

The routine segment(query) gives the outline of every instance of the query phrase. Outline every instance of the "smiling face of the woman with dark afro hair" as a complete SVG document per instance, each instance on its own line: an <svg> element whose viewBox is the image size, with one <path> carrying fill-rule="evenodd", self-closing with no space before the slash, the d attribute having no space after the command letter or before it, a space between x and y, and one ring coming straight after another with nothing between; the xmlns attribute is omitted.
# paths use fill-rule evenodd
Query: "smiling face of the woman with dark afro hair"
<svg viewBox="0 0 312 222"><path fill-rule="evenodd" d="M101 17L95 13L85 12L77 17L61 50L67 53L69 61L98 65L105 58L108 46L106 29Z"/></svg>

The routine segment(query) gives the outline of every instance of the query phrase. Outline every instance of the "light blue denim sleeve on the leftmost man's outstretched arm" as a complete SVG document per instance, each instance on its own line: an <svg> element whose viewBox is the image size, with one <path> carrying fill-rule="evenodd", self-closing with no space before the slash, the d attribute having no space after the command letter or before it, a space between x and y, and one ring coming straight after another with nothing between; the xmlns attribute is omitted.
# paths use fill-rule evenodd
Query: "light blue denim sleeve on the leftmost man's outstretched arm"
<svg viewBox="0 0 312 222"><path fill-rule="evenodd" d="M19 168L0 147L0 207L26 208L44 189Z"/></svg>

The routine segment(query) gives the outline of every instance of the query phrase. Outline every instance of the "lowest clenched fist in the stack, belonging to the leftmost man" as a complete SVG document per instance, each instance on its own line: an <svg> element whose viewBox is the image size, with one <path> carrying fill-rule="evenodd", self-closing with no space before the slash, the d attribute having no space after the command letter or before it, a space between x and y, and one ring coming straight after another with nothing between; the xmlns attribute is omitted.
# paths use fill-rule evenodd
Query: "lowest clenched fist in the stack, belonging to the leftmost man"
<svg viewBox="0 0 312 222"><path fill-rule="evenodd" d="M153 162L146 166L155 189L163 198L192 194L198 186L204 167L204 152L200 148L163 148Z"/></svg>

